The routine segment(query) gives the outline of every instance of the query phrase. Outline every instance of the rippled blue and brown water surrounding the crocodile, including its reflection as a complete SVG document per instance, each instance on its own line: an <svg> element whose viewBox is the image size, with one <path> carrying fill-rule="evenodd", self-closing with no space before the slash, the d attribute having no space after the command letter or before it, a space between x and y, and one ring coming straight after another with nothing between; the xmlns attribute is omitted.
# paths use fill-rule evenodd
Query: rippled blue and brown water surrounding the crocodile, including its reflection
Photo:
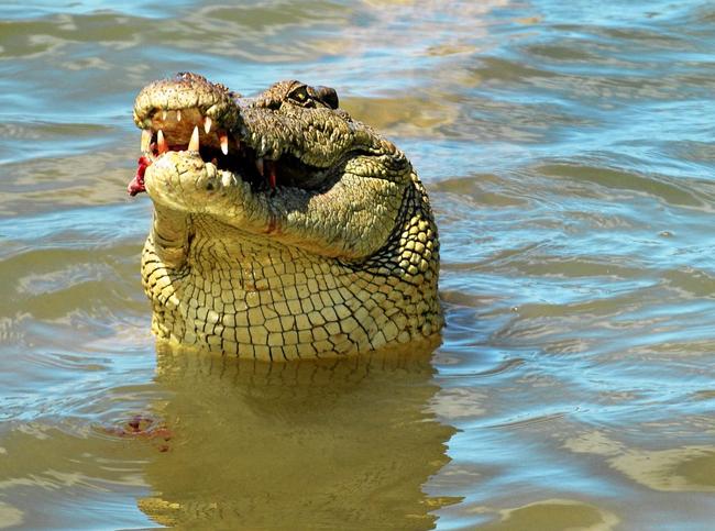
<svg viewBox="0 0 715 531"><path fill-rule="evenodd" d="M711 529L714 35L697 0L2 4L0 527ZM156 352L131 106L179 70L336 87L408 153L439 347Z"/></svg>

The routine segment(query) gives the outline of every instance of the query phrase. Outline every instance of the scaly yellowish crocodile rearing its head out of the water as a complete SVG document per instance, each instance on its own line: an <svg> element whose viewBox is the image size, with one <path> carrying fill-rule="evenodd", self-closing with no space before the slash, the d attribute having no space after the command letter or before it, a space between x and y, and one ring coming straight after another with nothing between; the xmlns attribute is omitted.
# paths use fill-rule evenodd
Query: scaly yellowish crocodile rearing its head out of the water
<svg viewBox="0 0 715 531"><path fill-rule="evenodd" d="M141 259L152 332L262 361L433 339L439 241L405 154L334 89L253 97L193 73L144 87L128 187L153 221Z"/></svg>

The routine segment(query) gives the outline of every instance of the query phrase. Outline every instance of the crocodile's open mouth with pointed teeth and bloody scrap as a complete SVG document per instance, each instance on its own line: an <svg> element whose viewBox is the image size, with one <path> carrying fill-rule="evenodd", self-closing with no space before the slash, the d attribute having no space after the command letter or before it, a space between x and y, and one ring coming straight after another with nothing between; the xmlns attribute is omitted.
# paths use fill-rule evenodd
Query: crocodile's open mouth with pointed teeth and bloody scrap
<svg viewBox="0 0 715 531"><path fill-rule="evenodd" d="M273 192L278 185L311 189L324 173L324 168L304 164L289 154L275 161L257 156L244 139L215 124L196 108L154 111L151 125L142 130L141 152L136 175L127 189L130 196L146 191L146 168L167 152L198 154L206 164L239 176L254 191Z"/></svg>

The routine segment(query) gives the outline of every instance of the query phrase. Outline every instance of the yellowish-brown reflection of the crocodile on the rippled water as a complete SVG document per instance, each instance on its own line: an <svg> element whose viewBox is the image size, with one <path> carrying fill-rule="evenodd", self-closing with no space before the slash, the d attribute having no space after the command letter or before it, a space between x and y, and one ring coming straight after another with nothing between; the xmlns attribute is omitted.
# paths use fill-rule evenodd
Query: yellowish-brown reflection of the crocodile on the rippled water
<svg viewBox="0 0 715 531"><path fill-rule="evenodd" d="M413 345L414 346L414 345ZM186 529L431 529L453 428L429 353L262 364L157 347L173 436L140 508Z"/></svg>

